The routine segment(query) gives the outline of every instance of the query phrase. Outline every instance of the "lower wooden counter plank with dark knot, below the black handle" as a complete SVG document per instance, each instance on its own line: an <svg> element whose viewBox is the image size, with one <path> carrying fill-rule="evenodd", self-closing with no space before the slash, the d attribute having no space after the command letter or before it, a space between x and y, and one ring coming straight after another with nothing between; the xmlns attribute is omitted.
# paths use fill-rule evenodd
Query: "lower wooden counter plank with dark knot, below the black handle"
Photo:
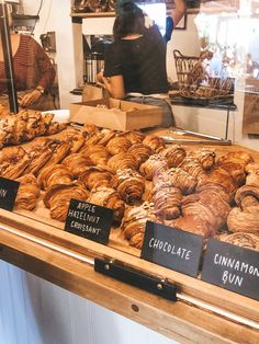
<svg viewBox="0 0 259 344"><path fill-rule="evenodd" d="M259 341L254 329L105 277L87 263L4 230L0 230L0 259L181 343Z"/></svg>

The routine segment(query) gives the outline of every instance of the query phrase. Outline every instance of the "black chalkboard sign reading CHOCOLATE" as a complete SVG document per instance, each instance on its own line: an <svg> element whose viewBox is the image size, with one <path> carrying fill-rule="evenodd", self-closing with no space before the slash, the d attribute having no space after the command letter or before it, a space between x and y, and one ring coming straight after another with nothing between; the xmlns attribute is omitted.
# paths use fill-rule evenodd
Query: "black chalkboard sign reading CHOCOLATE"
<svg viewBox="0 0 259 344"><path fill-rule="evenodd" d="M142 259L196 277L203 238L179 228L147 221Z"/></svg>

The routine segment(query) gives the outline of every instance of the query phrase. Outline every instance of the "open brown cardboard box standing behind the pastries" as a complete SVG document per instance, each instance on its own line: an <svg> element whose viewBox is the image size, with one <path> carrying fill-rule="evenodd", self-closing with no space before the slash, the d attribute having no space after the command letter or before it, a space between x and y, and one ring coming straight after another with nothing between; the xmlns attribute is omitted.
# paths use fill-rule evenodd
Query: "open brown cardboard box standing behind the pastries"
<svg viewBox="0 0 259 344"><path fill-rule="evenodd" d="M126 131L161 125L162 111L159 106L109 98L70 104L70 122Z"/></svg>

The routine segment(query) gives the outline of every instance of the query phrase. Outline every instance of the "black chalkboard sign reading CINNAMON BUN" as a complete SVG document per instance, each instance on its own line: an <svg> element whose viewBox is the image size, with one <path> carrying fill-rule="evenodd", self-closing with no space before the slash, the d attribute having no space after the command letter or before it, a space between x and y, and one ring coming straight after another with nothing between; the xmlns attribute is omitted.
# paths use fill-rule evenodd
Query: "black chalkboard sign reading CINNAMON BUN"
<svg viewBox="0 0 259 344"><path fill-rule="evenodd" d="M202 279L259 300L259 252L210 239Z"/></svg>

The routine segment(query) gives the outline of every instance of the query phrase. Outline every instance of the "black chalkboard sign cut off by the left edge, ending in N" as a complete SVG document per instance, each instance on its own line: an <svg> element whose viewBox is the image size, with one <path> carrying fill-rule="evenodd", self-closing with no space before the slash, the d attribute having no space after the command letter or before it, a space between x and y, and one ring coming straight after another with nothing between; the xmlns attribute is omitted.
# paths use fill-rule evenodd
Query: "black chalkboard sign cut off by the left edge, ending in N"
<svg viewBox="0 0 259 344"><path fill-rule="evenodd" d="M0 177L0 208L12 210L20 183Z"/></svg>

